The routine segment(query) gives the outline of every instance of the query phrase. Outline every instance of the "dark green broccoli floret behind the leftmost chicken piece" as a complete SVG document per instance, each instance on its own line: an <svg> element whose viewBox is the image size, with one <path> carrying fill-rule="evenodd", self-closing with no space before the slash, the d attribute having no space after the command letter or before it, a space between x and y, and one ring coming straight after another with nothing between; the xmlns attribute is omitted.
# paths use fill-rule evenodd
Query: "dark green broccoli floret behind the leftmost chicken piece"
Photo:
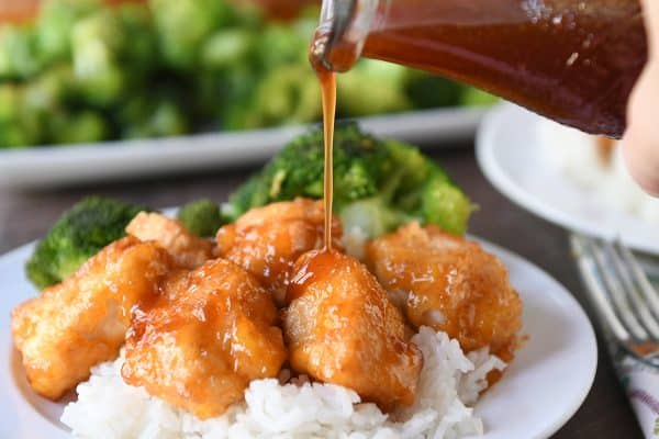
<svg viewBox="0 0 659 439"><path fill-rule="evenodd" d="M27 261L27 278L40 289L72 274L85 261L125 235L129 222L145 207L91 196L65 212Z"/></svg>

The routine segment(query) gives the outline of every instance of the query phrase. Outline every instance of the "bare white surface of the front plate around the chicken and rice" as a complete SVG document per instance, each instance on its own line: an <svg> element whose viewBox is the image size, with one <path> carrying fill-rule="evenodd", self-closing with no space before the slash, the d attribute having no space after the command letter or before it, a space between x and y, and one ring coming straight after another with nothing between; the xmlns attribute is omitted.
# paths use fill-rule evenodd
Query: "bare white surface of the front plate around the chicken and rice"
<svg viewBox="0 0 659 439"><path fill-rule="evenodd" d="M476 410L484 439L547 438L577 412L596 369L592 326L577 301L530 262L487 244L511 272L524 301L523 333L529 336L503 380ZM57 421L63 404L34 395L11 345L10 311L36 291L23 274L31 246L0 257L0 438L66 438ZM130 414L126 414L130 416Z"/></svg>

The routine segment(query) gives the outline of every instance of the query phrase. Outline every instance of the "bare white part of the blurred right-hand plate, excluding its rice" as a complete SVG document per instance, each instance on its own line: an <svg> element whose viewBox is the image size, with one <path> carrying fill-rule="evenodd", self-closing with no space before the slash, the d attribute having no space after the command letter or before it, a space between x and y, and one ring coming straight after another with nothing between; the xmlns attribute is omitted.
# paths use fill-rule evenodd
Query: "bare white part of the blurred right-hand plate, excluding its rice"
<svg viewBox="0 0 659 439"><path fill-rule="evenodd" d="M585 235L619 237L629 247L659 254L657 226L603 202L601 193L580 185L540 148L547 120L513 104L502 104L479 127L478 162L504 195L536 215ZM574 145L574 147L588 145Z"/></svg>

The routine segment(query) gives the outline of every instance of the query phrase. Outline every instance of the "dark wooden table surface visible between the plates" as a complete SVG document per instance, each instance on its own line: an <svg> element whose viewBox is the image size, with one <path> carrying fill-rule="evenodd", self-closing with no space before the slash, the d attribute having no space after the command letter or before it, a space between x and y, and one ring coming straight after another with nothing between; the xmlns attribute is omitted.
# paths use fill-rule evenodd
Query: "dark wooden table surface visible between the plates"
<svg viewBox="0 0 659 439"><path fill-rule="evenodd" d="M433 153L433 156L480 205L480 211L470 223L470 232L507 247L541 267L573 292L592 317L570 258L567 234L499 194L478 169L471 148L442 150ZM0 190L0 254L42 236L64 210L88 194L116 196L153 207L179 205L202 196L222 201L249 171L250 169L237 169L49 192ZM555 437L640 438L641 432L616 381L600 333L597 336L600 362L593 389L583 406ZM538 395L537 403L551 402L543 401L541 395Z"/></svg>

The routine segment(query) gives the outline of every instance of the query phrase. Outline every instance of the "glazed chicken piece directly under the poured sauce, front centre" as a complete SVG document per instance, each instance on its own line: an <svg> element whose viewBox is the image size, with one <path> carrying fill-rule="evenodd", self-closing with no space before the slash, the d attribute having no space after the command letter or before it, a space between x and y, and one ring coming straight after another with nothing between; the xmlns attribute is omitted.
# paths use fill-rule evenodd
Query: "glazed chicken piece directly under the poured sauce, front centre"
<svg viewBox="0 0 659 439"><path fill-rule="evenodd" d="M384 410L412 405L422 353L376 278L349 256L317 250L294 273L283 324L293 370L353 389Z"/></svg>

